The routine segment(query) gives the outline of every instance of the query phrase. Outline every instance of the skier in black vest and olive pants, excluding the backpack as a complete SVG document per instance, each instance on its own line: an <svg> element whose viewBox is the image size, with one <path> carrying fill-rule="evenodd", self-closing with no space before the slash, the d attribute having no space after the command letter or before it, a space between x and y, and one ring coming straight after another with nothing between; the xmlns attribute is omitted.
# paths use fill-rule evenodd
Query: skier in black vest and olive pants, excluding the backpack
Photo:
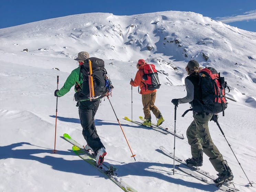
<svg viewBox="0 0 256 192"><path fill-rule="evenodd" d="M188 77L185 79L187 95L181 99L172 99L174 105L179 103L190 103L193 108L194 120L187 129L188 143L191 146L192 158L186 160L188 165L202 166L203 153L205 153L211 161L214 169L219 172L219 177L214 180L215 183L221 184L233 180L234 176L227 161L223 159L222 154L214 145L209 132L208 122L217 119L217 114L197 112L194 109L202 102L201 88L199 86L198 71L202 69L196 60L191 60L186 66Z"/></svg>

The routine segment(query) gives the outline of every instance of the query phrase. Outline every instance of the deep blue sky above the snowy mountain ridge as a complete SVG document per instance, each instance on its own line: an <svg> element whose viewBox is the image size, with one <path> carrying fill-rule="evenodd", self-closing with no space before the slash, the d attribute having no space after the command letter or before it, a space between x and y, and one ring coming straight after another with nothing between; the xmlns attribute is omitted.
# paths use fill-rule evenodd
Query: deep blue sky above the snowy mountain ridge
<svg viewBox="0 0 256 192"><path fill-rule="evenodd" d="M0 29L34 21L90 12L134 15L192 11L256 32L256 0L1 0Z"/></svg>

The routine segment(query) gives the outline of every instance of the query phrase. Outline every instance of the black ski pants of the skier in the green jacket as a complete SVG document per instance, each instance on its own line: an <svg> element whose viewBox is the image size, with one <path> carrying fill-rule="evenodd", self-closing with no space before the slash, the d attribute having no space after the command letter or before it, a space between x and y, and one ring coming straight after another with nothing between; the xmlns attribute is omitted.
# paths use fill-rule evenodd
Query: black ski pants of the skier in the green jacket
<svg viewBox="0 0 256 192"><path fill-rule="evenodd" d="M104 147L97 134L95 123L94 123L94 115L98 110L99 104L100 104L100 100L79 101L79 104L78 104L80 123L83 128L82 134L87 144L93 149L95 153L101 147Z"/></svg>

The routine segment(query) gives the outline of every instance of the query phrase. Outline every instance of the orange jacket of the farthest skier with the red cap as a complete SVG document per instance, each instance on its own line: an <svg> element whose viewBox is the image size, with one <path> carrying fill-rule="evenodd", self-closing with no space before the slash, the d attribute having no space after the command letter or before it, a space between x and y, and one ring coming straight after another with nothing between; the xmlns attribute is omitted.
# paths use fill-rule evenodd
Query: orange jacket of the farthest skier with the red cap
<svg viewBox="0 0 256 192"><path fill-rule="evenodd" d="M141 65L139 68L138 68L138 71L136 73L136 76L135 76L135 79L134 81L131 81L130 84L133 86L133 87L137 87L137 86L140 86L140 94L148 94L148 93L153 93L153 92L156 92L156 89L155 90L148 90L148 89L145 89L145 84L146 84L146 81L142 79L142 76L144 75L144 65Z"/></svg>

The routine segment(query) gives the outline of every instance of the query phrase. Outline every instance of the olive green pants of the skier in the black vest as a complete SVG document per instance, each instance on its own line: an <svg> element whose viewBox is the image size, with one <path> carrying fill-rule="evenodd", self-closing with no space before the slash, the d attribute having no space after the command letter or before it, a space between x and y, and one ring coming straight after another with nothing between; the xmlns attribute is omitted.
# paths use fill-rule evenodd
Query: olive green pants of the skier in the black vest
<svg viewBox="0 0 256 192"><path fill-rule="evenodd" d="M197 115L193 112L194 121L187 129L188 143L191 146L191 154L193 158L198 158L198 150L202 149L203 152L209 157L214 169L219 173L224 171L222 164L223 157L218 148L212 142L209 132L208 122L212 118L212 114Z"/></svg>

